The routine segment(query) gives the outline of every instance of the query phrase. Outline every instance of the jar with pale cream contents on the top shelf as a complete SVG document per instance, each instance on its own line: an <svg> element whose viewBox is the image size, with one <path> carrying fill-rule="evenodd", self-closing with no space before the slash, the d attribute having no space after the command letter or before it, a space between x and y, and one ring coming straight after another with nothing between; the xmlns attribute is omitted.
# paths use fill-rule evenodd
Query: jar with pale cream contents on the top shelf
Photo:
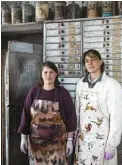
<svg viewBox="0 0 122 165"><path fill-rule="evenodd" d="M35 6L35 19L36 22L48 19L49 3L47 1L38 1Z"/></svg>

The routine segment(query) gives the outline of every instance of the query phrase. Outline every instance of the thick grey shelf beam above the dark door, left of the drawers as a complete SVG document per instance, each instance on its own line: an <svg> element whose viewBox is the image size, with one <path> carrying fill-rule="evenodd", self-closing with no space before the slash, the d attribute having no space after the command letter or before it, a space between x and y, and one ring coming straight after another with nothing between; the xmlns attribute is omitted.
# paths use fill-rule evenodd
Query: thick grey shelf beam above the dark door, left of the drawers
<svg viewBox="0 0 122 165"><path fill-rule="evenodd" d="M28 22L20 24L6 24L1 25L2 35L14 35L14 34L29 34L29 33L42 33L43 22Z"/></svg>

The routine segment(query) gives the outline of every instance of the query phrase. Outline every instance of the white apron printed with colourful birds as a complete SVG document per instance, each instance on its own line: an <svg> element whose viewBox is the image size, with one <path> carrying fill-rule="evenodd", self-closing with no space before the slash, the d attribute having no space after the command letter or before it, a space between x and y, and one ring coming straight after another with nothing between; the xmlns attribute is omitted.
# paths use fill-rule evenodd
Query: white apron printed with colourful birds
<svg viewBox="0 0 122 165"><path fill-rule="evenodd" d="M109 132L108 119L99 107L98 92L93 88L80 94L79 133L75 165L104 165L104 150Z"/></svg>

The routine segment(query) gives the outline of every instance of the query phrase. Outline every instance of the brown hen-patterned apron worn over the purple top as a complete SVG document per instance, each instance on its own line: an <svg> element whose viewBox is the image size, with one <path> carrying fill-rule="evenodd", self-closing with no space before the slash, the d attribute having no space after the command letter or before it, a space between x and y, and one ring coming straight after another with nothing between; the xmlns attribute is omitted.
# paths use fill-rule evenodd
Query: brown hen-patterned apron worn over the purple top
<svg viewBox="0 0 122 165"><path fill-rule="evenodd" d="M66 165L65 124L59 103L35 99L31 106L31 134L28 137L30 165Z"/></svg>

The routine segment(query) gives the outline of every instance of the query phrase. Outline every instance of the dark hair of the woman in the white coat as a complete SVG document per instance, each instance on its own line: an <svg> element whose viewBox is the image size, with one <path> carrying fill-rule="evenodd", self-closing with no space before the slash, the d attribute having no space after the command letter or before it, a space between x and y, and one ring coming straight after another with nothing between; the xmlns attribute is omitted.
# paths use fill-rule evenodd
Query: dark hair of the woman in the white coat
<svg viewBox="0 0 122 165"><path fill-rule="evenodd" d="M85 58L86 58L86 56L89 56L90 53L92 53L94 55L94 57L96 57L97 59L102 60L101 55L100 55L100 53L97 50L89 49L88 51L86 51L83 54L83 57L82 57L82 64L83 65L85 65ZM105 70L105 63L104 63L104 61L102 61L102 65L101 65L100 69L101 69L101 73L103 73L104 70Z"/></svg>

